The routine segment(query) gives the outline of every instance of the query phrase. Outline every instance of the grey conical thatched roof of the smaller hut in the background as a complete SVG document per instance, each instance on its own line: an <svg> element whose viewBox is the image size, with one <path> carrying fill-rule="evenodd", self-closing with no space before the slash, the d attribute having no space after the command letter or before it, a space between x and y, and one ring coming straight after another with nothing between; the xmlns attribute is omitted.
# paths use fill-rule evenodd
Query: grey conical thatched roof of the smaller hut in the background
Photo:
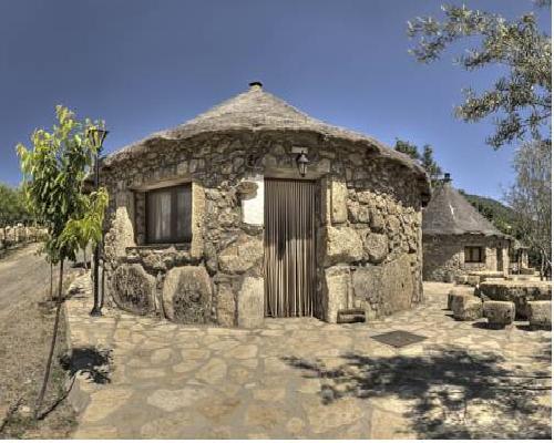
<svg viewBox="0 0 554 443"><path fill-rule="evenodd" d="M497 230L486 218L454 189L450 181L440 183L423 210L423 235L481 234L509 237Z"/></svg>

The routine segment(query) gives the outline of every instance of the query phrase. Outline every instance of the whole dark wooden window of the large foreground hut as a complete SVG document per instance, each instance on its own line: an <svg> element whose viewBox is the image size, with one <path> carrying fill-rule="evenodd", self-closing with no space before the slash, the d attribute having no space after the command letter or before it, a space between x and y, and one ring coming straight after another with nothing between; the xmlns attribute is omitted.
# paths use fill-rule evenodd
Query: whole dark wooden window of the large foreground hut
<svg viewBox="0 0 554 443"><path fill-rule="evenodd" d="M192 239L191 184L146 193L146 243L185 243Z"/></svg>

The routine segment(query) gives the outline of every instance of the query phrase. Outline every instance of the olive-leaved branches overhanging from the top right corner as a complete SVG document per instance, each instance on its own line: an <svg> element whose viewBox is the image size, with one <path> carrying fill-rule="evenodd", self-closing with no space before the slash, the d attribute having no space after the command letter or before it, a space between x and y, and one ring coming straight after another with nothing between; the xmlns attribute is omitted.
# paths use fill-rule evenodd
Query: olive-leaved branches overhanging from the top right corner
<svg viewBox="0 0 554 443"><path fill-rule="evenodd" d="M541 0L538 6L550 1ZM540 31L532 12L509 21L465 6L443 6L444 20L433 17L408 22L408 35L420 37L410 50L419 62L430 63L452 43L478 38L480 45L468 50L455 62L468 71L502 65L506 74L481 94L465 90L465 101L455 110L465 122L494 116L495 133L486 142L494 148L515 140L541 137L550 128L552 105L551 38Z"/></svg>

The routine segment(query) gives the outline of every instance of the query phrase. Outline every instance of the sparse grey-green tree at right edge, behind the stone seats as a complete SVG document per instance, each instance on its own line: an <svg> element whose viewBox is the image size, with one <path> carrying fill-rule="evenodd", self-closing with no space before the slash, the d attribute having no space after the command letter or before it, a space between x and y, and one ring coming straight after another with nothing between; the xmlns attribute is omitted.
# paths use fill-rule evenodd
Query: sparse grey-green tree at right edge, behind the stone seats
<svg viewBox="0 0 554 443"><path fill-rule="evenodd" d="M552 146L524 143L513 162L515 183L505 199L515 212L519 237L541 258L541 277L552 269Z"/></svg>

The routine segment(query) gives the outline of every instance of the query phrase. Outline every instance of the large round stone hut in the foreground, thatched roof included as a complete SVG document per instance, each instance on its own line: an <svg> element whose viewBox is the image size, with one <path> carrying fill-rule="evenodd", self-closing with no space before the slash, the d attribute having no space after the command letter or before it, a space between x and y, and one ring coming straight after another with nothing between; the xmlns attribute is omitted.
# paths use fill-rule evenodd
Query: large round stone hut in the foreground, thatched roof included
<svg viewBox="0 0 554 443"><path fill-rule="evenodd" d="M248 91L105 158L107 299L183 323L367 319L422 299L424 171Z"/></svg>

